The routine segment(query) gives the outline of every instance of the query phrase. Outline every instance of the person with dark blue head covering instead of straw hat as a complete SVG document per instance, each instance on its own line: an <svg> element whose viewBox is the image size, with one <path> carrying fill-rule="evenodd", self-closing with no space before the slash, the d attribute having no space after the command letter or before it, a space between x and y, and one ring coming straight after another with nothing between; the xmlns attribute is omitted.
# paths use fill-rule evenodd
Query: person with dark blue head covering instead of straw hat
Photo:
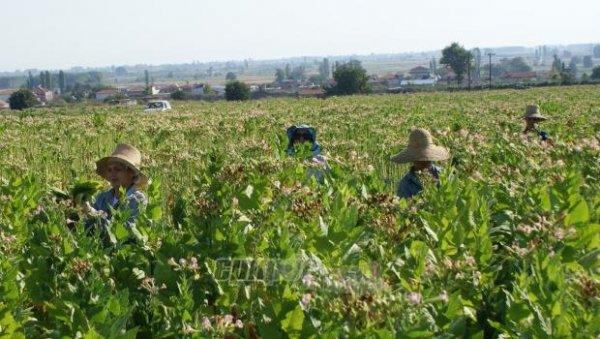
<svg viewBox="0 0 600 339"><path fill-rule="evenodd" d="M327 159L321 155L321 145L317 143L317 130L308 125L292 125L288 127L286 134L288 137L286 153L296 156L300 148L308 147L305 151L310 152L311 167L307 171L307 179L314 177L317 182L323 183L329 165Z"/></svg>

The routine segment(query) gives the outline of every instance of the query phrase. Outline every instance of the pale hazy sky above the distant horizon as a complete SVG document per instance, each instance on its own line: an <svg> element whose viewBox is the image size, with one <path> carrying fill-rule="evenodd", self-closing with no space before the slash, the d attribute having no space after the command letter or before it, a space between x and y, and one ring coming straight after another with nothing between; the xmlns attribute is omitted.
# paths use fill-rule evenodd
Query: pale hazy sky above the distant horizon
<svg viewBox="0 0 600 339"><path fill-rule="evenodd" d="M0 71L600 42L600 1L0 0Z"/></svg>

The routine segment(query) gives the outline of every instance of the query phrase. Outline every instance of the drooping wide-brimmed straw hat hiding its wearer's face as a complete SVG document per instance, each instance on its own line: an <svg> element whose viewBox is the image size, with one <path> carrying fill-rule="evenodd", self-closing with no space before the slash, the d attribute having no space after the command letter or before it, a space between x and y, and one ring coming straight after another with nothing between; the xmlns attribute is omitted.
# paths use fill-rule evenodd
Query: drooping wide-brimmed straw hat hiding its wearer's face
<svg viewBox="0 0 600 339"><path fill-rule="evenodd" d="M449 157L450 153L446 148L434 145L429 131L417 128L410 132L408 146L390 160L402 164L413 161L440 161Z"/></svg>

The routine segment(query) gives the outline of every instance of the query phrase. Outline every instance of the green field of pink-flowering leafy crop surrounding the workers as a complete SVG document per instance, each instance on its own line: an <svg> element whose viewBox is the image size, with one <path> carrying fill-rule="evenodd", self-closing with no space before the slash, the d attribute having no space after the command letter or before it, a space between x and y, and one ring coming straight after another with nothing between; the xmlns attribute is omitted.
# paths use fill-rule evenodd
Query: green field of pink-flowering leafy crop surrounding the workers
<svg viewBox="0 0 600 339"><path fill-rule="evenodd" d="M577 86L4 113L0 335L598 335L599 98ZM523 137L530 103L554 146ZM284 153L296 123L318 130L324 185ZM408 167L388 159L413 127L453 159L439 188L398 201ZM119 142L143 152L150 204L103 245L66 227L77 207L56 190L97 180ZM218 258L302 263L305 279L219 281Z"/></svg>

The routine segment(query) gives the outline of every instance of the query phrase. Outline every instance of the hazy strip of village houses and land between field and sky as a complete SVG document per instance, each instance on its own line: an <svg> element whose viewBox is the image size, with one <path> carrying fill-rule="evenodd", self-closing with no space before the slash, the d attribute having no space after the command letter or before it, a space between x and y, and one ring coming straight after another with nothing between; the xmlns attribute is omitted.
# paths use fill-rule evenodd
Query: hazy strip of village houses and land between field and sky
<svg viewBox="0 0 600 339"><path fill-rule="evenodd" d="M475 48L464 76L440 62L442 51L280 60L134 65L0 72L0 109L17 90L30 89L39 106L69 103L135 105L154 99L220 100L226 84L243 82L251 98L324 97L336 67L354 62L368 75L371 93L527 88L592 83L600 45ZM358 61L358 63L357 63ZM598 67L596 67L598 68Z"/></svg>

